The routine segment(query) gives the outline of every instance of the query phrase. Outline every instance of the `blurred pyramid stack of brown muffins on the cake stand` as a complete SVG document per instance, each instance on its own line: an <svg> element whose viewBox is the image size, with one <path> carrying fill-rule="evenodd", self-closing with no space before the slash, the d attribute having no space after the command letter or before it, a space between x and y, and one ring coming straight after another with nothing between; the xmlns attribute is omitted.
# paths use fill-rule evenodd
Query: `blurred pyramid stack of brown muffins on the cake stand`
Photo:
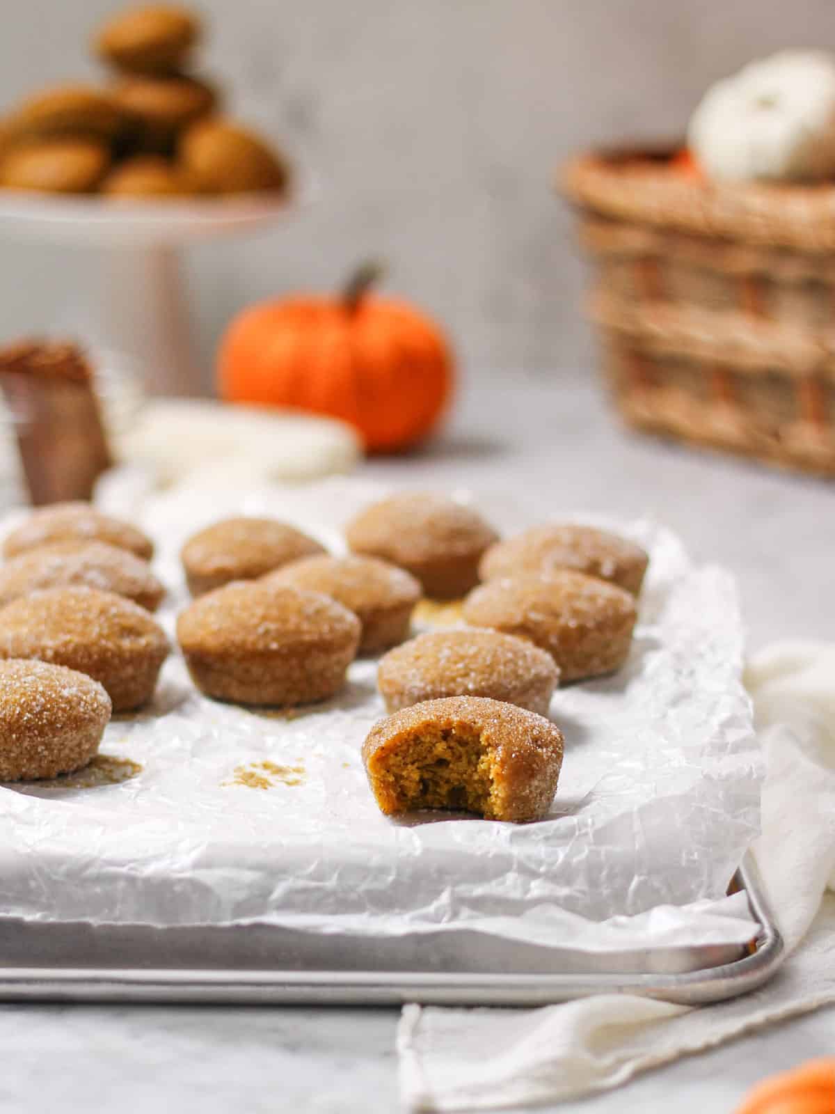
<svg viewBox="0 0 835 1114"><path fill-rule="evenodd" d="M166 198L282 193L285 158L220 115L218 89L189 71L200 38L194 13L129 9L95 35L105 88L60 85L0 120L0 187Z"/></svg>

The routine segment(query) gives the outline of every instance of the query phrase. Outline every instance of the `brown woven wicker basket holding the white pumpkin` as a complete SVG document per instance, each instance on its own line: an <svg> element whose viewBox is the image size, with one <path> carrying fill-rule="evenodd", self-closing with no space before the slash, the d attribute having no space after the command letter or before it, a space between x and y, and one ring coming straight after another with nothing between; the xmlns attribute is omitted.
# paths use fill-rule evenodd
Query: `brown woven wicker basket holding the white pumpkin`
<svg viewBox="0 0 835 1114"><path fill-rule="evenodd" d="M626 420L835 476L835 184L708 185L621 152L562 186Z"/></svg>

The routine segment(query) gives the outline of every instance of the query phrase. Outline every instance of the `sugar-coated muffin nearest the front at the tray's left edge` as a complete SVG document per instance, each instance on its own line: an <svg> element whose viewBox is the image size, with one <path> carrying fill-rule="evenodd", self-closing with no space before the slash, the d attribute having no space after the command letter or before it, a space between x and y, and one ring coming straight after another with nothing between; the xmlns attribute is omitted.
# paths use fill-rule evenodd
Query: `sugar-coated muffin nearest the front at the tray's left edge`
<svg viewBox="0 0 835 1114"><path fill-rule="evenodd" d="M0 781L86 766L110 719L97 681L46 662L0 662Z"/></svg>

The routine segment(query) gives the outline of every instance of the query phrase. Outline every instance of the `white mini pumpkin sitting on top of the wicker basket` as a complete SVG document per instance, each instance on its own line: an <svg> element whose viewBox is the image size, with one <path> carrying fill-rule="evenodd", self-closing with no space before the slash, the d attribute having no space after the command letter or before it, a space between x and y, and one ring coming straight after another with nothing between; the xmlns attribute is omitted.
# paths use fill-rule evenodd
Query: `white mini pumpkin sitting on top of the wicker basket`
<svg viewBox="0 0 835 1114"><path fill-rule="evenodd" d="M692 114L687 141L710 178L835 177L835 57L786 50L718 81Z"/></svg>

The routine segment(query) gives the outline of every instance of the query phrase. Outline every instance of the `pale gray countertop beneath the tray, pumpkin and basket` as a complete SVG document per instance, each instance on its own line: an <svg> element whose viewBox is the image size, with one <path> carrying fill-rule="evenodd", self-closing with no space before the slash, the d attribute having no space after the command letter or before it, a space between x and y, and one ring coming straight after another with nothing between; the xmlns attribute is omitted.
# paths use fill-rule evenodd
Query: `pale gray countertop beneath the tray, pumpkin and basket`
<svg viewBox="0 0 835 1114"><path fill-rule="evenodd" d="M739 577L750 643L832 634L835 485L627 434L592 384L492 377L439 440L371 477L513 488L553 508L649 512ZM397 1108L392 1009L0 1007L3 1111L145 1114ZM560 1110L730 1112L763 1075L832 1054L835 1009Z"/></svg>

